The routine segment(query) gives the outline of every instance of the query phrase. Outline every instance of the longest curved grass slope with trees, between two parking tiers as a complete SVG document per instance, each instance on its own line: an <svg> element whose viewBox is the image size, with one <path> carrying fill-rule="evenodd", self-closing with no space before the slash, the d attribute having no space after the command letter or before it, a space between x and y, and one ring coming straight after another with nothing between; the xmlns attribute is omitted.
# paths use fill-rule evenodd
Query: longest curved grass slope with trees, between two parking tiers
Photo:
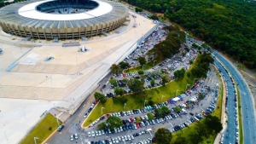
<svg viewBox="0 0 256 144"><path fill-rule="evenodd" d="M179 89L179 91L177 91L177 95L182 94L187 84L192 85L193 79L194 78L192 77L188 78L185 76L183 79L172 81L165 86L145 90L141 94L125 95L125 98L128 100L126 102L125 110L142 108L144 107L145 100L151 100L154 101L154 103L160 103L162 95L164 95L162 101L167 101L170 98L176 96L176 89ZM96 118L101 117L102 107L105 107L105 109L103 109L103 114L109 112L121 112L124 110L124 103L113 98L109 98L105 104L99 103L92 111L93 114L90 114L90 116L86 118L86 121L83 125L84 127L95 121Z"/></svg>

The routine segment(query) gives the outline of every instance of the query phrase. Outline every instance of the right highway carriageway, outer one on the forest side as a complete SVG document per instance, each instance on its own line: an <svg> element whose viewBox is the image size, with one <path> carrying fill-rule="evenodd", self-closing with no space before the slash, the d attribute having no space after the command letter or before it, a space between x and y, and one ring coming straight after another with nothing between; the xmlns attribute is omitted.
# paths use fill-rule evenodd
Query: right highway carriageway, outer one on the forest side
<svg viewBox="0 0 256 144"><path fill-rule="evenodd" d="M238 89L241 95L241 117L242 117L242 127L243 127L243 138L245 144L255 143L256 141L256 126L255 126L255 110L253 105L252 94L242 78L241 74L236 70L229 60L226 60L224 56L218 54L217 51L212 51L218 60L220 60L228 71L232 74L233 78L238 85Z"/></svg>

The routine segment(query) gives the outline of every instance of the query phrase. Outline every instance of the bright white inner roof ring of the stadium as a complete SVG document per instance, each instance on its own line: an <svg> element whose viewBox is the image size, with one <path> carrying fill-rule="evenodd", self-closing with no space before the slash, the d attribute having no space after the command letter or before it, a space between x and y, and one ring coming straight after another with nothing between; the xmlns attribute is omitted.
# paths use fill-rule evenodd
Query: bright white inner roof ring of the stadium
<svg viewBox="0 0 256 144"><path fill-rule="evenodd" d="M92 9L88 12L79 13L79 14L47 14L40 12L36 9L39 4L50 2L54 0L45 0L35 3L26 4L18 10L18 14L26 18L37 19L37 20L84 20L90 19L103 14L108 14L111 12L113 7L109 3L105 3L99 0L94 0L96 3L99 3L99 6L96 9Z"/></svg>

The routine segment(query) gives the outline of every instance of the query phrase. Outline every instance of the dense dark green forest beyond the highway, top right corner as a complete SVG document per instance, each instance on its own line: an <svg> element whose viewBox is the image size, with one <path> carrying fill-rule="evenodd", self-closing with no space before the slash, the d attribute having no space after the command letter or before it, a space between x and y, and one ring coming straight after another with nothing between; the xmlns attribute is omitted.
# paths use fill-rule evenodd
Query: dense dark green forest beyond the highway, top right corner
<svg viewBox="0 0 256 144"><path fill-rule="evenodd" d="M163 13L213 49L256 69L256 3L238 0L125 0Z"/></svg>

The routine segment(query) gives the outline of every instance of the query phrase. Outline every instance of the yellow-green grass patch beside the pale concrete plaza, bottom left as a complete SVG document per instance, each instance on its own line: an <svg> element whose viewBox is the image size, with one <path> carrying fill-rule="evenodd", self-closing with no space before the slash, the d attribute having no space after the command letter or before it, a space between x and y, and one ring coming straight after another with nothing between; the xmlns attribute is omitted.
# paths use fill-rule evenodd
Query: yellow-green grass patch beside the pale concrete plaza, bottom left
<svg viewBox="0 0 256 144"><path fill-rule="evenodd" d="M59 121L60 124L61 121ZM51 128L51 130L49 130ZM51 133L53 133L58 128L56 118L51 114L47 114L41 122L28 134L26 137L20 141L20 144L34 143L34 137L38 137L37 143L42 143Z"/></svg>

